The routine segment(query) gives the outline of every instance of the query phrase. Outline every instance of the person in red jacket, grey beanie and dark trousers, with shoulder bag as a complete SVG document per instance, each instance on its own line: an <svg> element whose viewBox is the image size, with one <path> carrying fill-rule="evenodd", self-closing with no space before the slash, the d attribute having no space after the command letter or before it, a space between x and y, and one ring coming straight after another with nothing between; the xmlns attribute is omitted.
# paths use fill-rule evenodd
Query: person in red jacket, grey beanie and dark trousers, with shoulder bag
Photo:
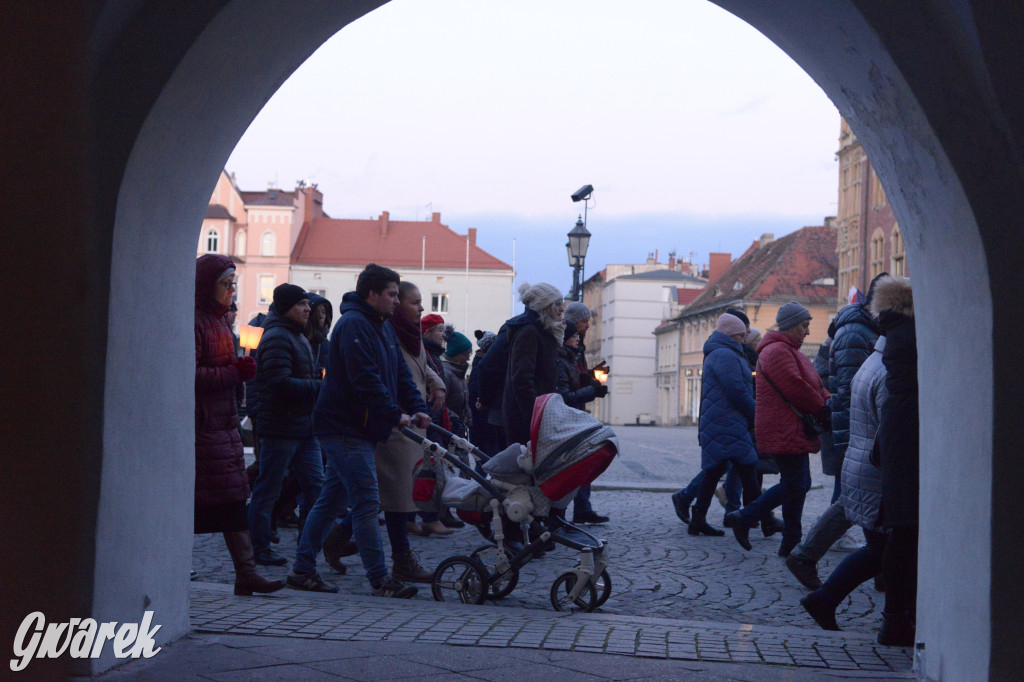
<svg viewBox="0 0 1024 682"><path fill-rule="evenodd" d="M779 556L788 556L800 543L804 499L811 489L810 453L821 449L818 437L804 432L804 423L796 411L828 421L828 391L821 385L811 361L800 352L810 334L811 313L800 303L790 301L775 315L778 331L765 334L758 346L757 411L754 428L758 451L778 463L779 482L739 511L725 515L726 527L743 549L751 549L750 528L771 512L782 507L782 545Z"/></svg>

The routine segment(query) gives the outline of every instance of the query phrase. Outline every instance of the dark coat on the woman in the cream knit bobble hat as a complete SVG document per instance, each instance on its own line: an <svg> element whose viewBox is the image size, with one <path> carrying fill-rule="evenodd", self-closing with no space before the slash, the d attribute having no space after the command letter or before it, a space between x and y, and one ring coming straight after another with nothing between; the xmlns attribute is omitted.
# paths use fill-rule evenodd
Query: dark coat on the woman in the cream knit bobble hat
<svg viewBox="0 0 1024 682"><path fill-rule="evenodd" d="M502 420L509 442L529 440L534 401L558 390L558 348L554 335L544 329L541 315L527 310L507 324L509 364L505 376Z"/></svg>

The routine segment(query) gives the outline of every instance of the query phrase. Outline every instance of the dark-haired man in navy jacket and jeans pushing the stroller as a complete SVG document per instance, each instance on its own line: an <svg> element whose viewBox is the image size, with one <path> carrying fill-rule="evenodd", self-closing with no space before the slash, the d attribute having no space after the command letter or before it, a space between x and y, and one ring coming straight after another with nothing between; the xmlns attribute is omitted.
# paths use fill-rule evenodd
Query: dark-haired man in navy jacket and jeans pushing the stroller
<svg viewBox="0 0 1024 682"><path fill-rule="evenodd" d="M389 322L398 305L398 273L371 263L342 297L331 334L327 377L313 410L313 432L327 455L327 479L299 539L288 584L337 592L316 574L316 555L335 517L349 504L352 535L374 596L408 599L416 588L387 572L377 515L374 451L391 429L430 424L427 406L401 356Z"/></svg>

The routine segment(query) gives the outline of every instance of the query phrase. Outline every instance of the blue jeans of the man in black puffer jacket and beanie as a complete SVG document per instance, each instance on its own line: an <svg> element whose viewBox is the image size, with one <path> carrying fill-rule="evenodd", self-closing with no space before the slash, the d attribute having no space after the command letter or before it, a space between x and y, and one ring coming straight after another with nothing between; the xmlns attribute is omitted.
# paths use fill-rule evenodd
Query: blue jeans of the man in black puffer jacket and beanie
<svg viewBox="0 0 1024 682"><path fill-rule="evenodd" d="M299 479L305 499L319 496L324 484L324 460L316 438L261 438L259 476L249 503L249 532L253 551L270 547L270 514L281 497L281 484L289 468Z"/></svg>

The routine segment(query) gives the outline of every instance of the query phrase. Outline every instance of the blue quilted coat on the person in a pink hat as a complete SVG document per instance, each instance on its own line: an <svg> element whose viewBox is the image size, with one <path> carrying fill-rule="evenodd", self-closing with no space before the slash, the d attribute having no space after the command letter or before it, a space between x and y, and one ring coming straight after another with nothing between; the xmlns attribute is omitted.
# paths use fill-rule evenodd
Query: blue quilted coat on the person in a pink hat
<svg viewBox="0 0 1024 682"><path fill-rule="evenodd" d="M754 383L751 367L737 341L714 332L705 342L700 395L700 468L726 460L756 465L751 439L754 426Z"/></svg>

